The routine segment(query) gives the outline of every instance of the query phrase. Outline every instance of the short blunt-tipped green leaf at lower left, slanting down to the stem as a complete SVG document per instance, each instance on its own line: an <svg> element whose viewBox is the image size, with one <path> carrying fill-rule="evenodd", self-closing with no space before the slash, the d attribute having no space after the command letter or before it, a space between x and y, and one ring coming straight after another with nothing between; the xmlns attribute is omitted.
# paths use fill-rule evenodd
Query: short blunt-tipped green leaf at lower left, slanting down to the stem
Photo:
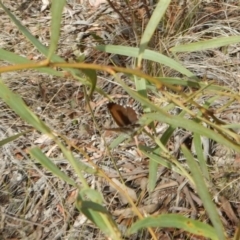
<svg viewBox="0 0 240 240"><path fill-rule="evenodd" d="M62 172L49 158L46 157L46 155L41 152L39 148L32 148L29 153L51 173L55 174L57 177L67 182L68 184L77 187L75 181L69 178L64 172Z"/></svg>

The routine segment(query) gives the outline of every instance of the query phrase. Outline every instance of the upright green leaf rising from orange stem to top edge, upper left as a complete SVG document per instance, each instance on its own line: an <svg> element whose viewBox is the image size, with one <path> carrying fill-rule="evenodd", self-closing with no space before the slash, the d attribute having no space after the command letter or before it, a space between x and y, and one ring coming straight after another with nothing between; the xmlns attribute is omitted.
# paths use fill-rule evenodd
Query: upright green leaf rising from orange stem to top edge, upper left
<svg viewBox="0 0 240 240"><path fill-rule="evenodd" d="M52 55L57 49L58 39L60 35L62 11L65 6L66 0L53 0L51 6L51 41L47 55L50 61Z"/></svg>

